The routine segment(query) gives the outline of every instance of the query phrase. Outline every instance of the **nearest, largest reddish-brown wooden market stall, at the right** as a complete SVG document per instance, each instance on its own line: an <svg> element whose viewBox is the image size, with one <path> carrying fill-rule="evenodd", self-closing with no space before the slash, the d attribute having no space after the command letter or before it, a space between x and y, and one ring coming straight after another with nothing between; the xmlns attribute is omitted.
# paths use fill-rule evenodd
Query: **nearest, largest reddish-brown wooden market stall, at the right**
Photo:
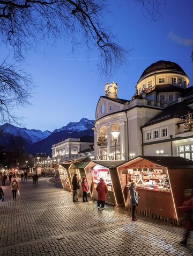
<svg viewBox="0 0 193 256"><path fill-rule="evenodd" d="M181 224L179 210L184 190L193 188L193 161L181 157L138 156L118 167L124 203L129 204L129 184L136 182L140 195L137 211Z"/></svg>

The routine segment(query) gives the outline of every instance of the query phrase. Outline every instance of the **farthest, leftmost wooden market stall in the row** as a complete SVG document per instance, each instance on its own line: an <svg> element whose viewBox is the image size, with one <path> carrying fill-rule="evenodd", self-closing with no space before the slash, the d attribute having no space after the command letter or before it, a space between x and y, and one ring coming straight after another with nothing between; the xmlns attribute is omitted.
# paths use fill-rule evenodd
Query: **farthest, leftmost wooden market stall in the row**
<svg viewBox="0 0 193 256"><path fill-rule="evenodd" d="M68 190L71 192L71 186L70 186L70 172L69 167L71 163L63 163L60 164L58 167L60 179L62 182L63 189Z"/></svg>

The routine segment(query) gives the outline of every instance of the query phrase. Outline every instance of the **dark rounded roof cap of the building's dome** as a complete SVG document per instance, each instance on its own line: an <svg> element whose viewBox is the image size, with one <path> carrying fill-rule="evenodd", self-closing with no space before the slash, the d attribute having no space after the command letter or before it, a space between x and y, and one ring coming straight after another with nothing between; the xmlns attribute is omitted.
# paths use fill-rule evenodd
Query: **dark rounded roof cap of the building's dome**
<svg viewBox="0 0 193 256"><path fill-rule="evenodd" d="M169 72L180 73L187 76L184 70L177 63L172 61L159 60L147 67L140 76L139 80L141 80L144 76L148 76L154 72L166 72L167 70Z"/></svg>

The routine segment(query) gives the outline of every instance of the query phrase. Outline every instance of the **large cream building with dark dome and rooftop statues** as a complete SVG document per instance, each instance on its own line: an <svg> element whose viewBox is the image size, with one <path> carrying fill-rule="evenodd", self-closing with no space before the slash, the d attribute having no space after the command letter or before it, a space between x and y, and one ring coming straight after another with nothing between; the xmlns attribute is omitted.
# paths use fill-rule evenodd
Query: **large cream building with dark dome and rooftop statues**
<svg viewBox="0 0 193 256"><path fill-rule="evenodd" d="M136 93L117 97L106 83L96 106L95 159L129 160L137 155L173 155L193 160L193 90L175 62L160 60L140 76Z"/></svg>

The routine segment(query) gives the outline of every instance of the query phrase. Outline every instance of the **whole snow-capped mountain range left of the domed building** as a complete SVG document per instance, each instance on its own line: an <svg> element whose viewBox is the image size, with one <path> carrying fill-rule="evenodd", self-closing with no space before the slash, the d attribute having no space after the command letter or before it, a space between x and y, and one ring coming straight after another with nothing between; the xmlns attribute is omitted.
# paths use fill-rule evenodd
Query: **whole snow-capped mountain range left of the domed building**
<svg viewBox="0 0 193 256"><path fill-rule="evenodd" d="M28 153L50 153L51 146L69 136L78 138L83 136L93 136L92 127L94 120L87 118L80 119L80 122L71 122L53 132L41 130L28 130L11 124L0 126L0 147L12 151L17 145L21 145Z"/></svg>

